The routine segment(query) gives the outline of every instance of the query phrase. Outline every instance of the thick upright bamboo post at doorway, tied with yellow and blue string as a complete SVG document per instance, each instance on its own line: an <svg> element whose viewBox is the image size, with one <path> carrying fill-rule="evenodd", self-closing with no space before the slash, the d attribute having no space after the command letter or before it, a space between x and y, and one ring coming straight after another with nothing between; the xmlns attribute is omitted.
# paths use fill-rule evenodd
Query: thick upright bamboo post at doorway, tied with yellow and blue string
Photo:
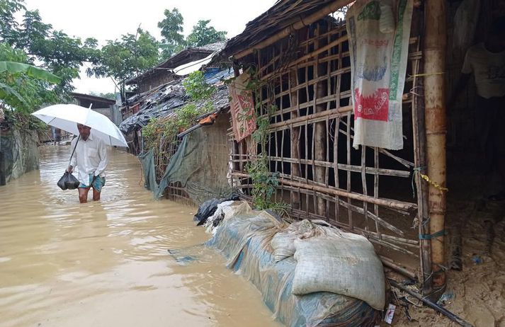
<svg viewBox="0 0 505 327"><path fill-rule="evenodd" d="M446 187L446 1L426 0L424 40L424 102L426 106L426 161L430 180ZM443 266L446 193L429 185L429 214L433 289L446 285ZM438 294L440 295L441 292ZM437 292L438 293L438 292Z"/></svg>

